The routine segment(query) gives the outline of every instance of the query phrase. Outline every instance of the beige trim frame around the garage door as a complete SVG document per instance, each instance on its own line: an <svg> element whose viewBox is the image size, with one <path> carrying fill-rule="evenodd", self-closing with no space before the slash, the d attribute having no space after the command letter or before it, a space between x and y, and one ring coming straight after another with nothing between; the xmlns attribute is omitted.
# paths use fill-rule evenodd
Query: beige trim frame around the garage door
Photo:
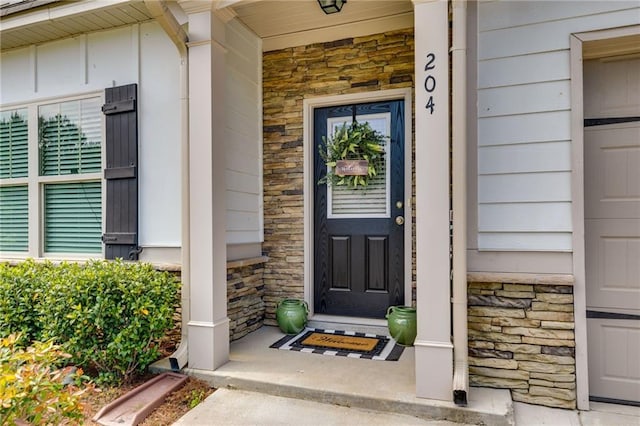
<svg viewBox="0 0 640 426"><path fill-rule="evenodd" d="M640 35L640 25L590 31L571 35L571 218L573 222L574 320L576 339L576 400L579 410L589 409L589 371L587 355L587 299L584 228L584 49L589 43L619 37ZM615 44L612 43L613 49ZM602 56L605 55L602 50ZM624 53L624 52L616 52Z"/></svg>

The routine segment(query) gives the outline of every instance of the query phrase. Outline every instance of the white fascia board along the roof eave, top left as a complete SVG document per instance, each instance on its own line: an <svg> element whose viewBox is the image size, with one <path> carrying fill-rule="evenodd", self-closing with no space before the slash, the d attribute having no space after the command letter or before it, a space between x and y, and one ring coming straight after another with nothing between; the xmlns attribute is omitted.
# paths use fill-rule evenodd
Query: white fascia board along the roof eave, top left
<svg viewBox="0 0 640 426"><path fill-rule="evenodd" d="M14 17L9 16L8 18L2 19L2 21L0 21L0 32L27 27L29 25L39 24L42 22L53 21L60 18L97 12L102 9L111 9L119 4L130 2L131 0L87 0L63 6L57 6L57 4L54 3L46 9L20 14Z"/></svg>

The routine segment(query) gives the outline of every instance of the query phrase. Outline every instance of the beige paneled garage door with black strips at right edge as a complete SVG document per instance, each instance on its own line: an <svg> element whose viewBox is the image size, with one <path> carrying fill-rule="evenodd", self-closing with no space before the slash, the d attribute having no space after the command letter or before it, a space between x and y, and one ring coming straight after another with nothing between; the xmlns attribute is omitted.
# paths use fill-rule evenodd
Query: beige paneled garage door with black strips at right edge
<svg viewBox="0 0 640 426"><path fill-rule="evenodd" d="M640 402L640 58L584 64L591 400Z"/></svg>

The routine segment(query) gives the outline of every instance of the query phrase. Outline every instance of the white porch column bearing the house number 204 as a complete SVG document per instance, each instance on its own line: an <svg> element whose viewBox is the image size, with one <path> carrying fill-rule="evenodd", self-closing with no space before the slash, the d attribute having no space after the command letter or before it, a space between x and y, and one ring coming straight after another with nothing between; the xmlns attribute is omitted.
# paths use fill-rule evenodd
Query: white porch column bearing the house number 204
<svg viewBox="0 0 640 426"><path fill-rule="evenodd" d="M446 0L414 0L416 395L453 399L449 267L449 25Z"/></svg>

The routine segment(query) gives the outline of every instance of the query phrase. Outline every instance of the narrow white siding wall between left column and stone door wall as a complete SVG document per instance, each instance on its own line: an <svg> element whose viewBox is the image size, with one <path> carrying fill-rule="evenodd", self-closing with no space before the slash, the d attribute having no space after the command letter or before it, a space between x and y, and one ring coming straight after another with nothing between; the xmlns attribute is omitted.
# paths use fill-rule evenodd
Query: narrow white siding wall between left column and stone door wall
<svg viewBox="0 0 640 426"><path fill-rule="evenodd" d="M260 243L263 241L262 41L232 20L227 23L225 47L227 244Z"/></svg>

